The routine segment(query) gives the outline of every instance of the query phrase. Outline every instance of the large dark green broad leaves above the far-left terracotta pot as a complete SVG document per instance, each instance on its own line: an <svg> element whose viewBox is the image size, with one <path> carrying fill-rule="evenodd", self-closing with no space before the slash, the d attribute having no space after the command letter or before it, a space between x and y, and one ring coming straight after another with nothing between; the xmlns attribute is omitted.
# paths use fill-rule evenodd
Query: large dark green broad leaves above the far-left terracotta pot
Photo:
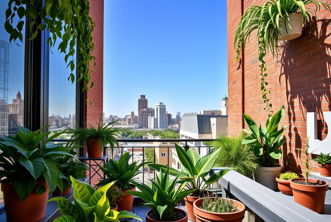
<svg viewBox="0 0 331 222"><path fill-rule="evenodd" d="M50 144L52 139L58 137L62 132L50 136L50 131L40 133L49 126L42 127L36 131L30 131L22 126L16 125L18 133L13 136L0 136L0 178L5 183L14 183L21 201L30 194L36 186L37 180L45 179L50 193L56 188L59 181L59 167L54 162L61 157L70 156L66 147L60 144ZM44 140L43 145L40 143ZM42 190L45 187L40 187ZM39 188L38 188L39 189ZM45 189L46 190L46 189Z"/></svg>

